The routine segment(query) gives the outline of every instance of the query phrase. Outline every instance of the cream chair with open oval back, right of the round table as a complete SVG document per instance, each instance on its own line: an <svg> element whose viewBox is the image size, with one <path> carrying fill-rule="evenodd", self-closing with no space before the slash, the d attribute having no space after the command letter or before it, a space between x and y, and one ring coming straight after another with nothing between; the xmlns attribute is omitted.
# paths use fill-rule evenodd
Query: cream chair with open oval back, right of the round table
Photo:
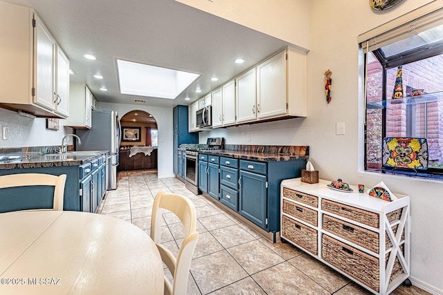
<svg viewBox="0 0 443 295"><path fill-rule="evenodd" d="M174 213L183 224L185 239L179 247L177 258L169 249L161 245L161 214L163 209ZM165 294L186 294L191 259L199 238L199 233L195 231L196 227L197 213L194 204L188 198L176 193L165 193L165 191L157 193L152 207L151 238L156 243L161 259L173 277L171 283L165 276Z"/></svg>

